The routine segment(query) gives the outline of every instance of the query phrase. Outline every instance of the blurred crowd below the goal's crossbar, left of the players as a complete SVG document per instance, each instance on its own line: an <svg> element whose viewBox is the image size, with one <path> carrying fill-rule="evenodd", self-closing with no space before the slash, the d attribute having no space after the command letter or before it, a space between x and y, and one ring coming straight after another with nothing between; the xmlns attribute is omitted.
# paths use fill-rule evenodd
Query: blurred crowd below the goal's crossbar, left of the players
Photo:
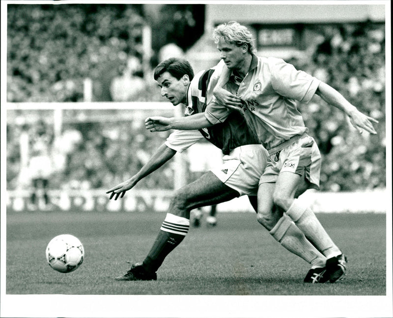
<svg viewBox="0 0 393 318"><path fill-rule="evenodd" d="M167 138L169 132L151 133L144 128L142 116L147 112L121 120L121 114L112 122L65 123L60 136L53 138L51 124L46 134L50 149L51 166L47 166L51 189L108 188L130 178L147 162L150 155ZM29 136L28 160L32 158L34 134L40 112L35 112L37 122L7 126L7 189L31 188L31 167L23 168L20 147L24 133ZM20 119L20 117L17 117ZM23 155L23 151L22 151ZM173 163L161 168L140 181L141 188L172 189Z"/></svg>

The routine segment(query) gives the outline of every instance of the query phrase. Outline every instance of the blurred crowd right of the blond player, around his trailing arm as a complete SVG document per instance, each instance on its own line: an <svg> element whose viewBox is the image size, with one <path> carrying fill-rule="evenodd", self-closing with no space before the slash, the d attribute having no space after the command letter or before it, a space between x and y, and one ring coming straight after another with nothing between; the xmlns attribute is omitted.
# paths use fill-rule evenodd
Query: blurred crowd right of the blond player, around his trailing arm
<svg viewBox="0 0 393 318"><path fill-rule="evenodd" d="M378 120L377 135L355 131L343 113L314 97L300 105L322 154L321 189L351 191L386 185L385 25L369 22L320 27L310 59L289 61L337 89Z"/></svg>

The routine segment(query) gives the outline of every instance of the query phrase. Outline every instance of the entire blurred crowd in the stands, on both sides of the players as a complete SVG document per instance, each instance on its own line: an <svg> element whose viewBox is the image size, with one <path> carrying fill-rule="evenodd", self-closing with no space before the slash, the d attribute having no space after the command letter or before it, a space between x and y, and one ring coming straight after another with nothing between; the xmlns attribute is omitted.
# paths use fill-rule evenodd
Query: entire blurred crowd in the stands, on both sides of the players
<svg viewBox="0 0 393 318"><path fill-rule="evenodd" d="M17 5L8 5L7 101L83 101L85 77L92 78L93 91L100 92L94 95L97 101L163 100L156 84L143 81L140 73L137 59L143 21L138 7L113 10L102 5L95 12L88 5L84 12L76 5L68 5L67 10L56 7L17 10ZM304 58L287 60L327 82L379 121L378 135L359 135L340 111L320 98L299 105L322 154L323 191L386 185L384 27L372 23L317 26L317 45L310 44ZM135 84L130 84L133 80ZM122 87L130 85L140 87L138 94L126 94ZM20 145L24 132L31 135L35 123L24 121L24 116L20 112L15 115L19 122L7 124L9 190L28 187L27 174L21 171ZM124 117L116 111L111 116L119 120L65 122L59 138L48 138L53 161L49 188L112 187L136 173L168 136L146 131L141 117L121 120ZM47 125L52 134L53 122ZM140 187L171 189L173 183L168 180L173 180L174 169L173 163L165 165L143 179Z"/></svg>

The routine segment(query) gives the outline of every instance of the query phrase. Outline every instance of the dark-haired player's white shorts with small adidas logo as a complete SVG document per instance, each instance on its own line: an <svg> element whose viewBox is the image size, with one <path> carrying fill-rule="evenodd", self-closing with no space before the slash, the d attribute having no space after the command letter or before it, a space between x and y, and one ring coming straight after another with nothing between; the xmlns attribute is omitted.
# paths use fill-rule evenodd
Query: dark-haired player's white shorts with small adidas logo
<svg viewBox="0 0 393 318"><path fill-rule="evenodd" d="M240 146L223 156L220 167L210 171L240 196L256 196L267 158L268 152L262 145Z"/></svg>

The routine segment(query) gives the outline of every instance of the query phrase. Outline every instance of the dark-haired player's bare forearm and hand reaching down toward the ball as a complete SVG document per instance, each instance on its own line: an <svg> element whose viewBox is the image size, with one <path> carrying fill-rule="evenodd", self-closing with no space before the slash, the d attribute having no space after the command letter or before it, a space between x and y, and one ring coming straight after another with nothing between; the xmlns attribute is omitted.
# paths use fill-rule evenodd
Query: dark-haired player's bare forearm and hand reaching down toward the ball
<svg viewBox="0 0 393 318"><path fill-rule="evenodd" d="M109 199L112 199L113 196L115 200L117 200L119 196L122 198L126 191L134 188L141 179L160 168L170 158L172 158L175 153L176 150L167 147L165 144L161 145L137 174L106 192L107 194L111 194Z"/></svg>

